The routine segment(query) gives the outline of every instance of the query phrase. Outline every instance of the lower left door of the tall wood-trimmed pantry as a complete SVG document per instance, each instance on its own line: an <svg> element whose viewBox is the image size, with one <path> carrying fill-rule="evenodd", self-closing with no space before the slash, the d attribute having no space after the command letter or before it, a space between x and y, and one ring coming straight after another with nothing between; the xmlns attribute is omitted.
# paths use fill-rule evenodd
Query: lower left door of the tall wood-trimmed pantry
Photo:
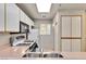
<svg viewBox="0 0 86 64"><path fill-rule="evenodd" d="M71 52L71 39L62 39L62 52Z"/></svg>

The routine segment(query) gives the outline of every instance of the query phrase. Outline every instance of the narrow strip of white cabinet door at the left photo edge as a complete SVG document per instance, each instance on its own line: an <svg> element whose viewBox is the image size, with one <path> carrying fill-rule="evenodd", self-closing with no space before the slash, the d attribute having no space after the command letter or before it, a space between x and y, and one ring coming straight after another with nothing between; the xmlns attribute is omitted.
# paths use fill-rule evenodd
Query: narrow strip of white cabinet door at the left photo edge
<svg viewBox="0 0 86 64"><path fill-rule="evenodd" d="M4 31L4 3L0 3L0 31Z"/></svg>

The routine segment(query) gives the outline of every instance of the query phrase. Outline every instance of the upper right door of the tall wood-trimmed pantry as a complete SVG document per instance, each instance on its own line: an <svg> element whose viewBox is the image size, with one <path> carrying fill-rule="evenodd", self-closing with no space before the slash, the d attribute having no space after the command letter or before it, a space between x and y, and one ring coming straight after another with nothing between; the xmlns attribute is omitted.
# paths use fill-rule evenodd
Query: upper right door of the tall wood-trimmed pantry
<svg viewBox="0 0 86 64"><path fill-rule="evenodd" d="M72 16L72 37L81 37L81 16Z"/></svg>

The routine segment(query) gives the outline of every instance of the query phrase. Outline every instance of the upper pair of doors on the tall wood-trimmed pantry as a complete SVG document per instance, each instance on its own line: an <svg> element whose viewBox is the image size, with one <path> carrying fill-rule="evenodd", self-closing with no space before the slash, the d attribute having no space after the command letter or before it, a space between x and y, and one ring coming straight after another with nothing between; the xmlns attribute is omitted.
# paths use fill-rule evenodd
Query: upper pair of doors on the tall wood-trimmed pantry
<svg viewBox="0 0 86 64"><path fill-rule="evenodd" d="M62 37L81 37L81 16L62 16Z"/></svg>

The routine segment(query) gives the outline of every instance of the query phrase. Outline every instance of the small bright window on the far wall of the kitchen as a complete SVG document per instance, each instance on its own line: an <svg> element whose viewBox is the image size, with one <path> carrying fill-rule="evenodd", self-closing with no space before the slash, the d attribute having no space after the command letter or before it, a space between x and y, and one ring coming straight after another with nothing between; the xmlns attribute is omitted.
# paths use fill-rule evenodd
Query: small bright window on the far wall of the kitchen
<svg viewBox="0 0 86 64"><path fill-rule="evenodd" d="M50 24L40 24L40 35L50 35Z"/></svg>

